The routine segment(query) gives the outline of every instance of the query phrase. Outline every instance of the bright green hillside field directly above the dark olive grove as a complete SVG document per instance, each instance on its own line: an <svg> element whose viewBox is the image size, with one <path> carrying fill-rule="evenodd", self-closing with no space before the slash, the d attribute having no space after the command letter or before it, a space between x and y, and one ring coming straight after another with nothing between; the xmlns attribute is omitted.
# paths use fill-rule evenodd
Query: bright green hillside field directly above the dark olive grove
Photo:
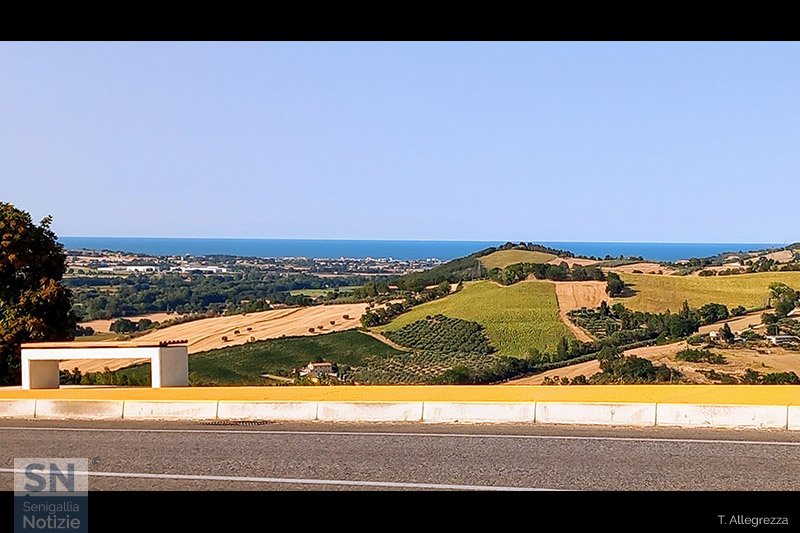
<svg viewBox="0 0 800 533"><path fill-rule="evenodd" d="M508 287L491 281L465 283L461 291L417 306L378 329L396 331L437 314L483 325L501 355L524 356L531 348L555 351L561 337L573 337L558 317L555 286L549 281Z"/></svg>

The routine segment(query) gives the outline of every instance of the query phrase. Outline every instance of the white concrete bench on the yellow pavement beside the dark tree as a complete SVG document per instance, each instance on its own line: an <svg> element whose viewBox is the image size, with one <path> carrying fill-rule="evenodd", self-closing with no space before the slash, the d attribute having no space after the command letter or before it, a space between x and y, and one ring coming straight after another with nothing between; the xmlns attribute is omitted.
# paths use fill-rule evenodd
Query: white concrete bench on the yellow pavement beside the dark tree
<svg viewBox="0 0 800 533"><path fill-rule="evenodd" d="M58 362L68 359L149 359L153 388L189 385L186 341L33 342L22 345L22 388L59 388Z"/></svg>

